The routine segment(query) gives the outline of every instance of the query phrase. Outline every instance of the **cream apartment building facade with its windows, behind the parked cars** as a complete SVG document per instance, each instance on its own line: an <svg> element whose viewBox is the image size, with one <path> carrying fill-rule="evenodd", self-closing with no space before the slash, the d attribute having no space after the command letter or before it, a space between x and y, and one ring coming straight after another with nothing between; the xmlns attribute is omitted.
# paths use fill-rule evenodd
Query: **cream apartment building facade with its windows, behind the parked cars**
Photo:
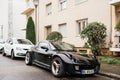
<svg viewBox="0 0 120 80"><path fill-rule="evenodd" d="M35 19L33 0L26 0L29 6L23 11ZM80 32L90 22L101 22L107 28L106 48L118 43L115 25L119 21L120 0L39 0L37 23L38 39L45 40L52 31L59 31L63 41L83 47L85 40Z"/></svg>

